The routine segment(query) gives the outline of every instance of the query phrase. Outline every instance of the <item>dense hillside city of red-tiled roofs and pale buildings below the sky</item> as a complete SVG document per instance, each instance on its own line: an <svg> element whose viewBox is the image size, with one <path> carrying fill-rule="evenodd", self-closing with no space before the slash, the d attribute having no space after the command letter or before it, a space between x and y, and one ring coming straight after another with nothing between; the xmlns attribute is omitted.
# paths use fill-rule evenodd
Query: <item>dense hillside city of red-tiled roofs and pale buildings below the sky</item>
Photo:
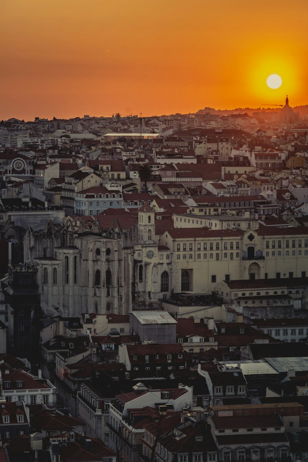
<svg viewBox="0 0 308 462"><path fill-rule="evenodd" d="M308 459L305 111L0 122L1 461Z"/></svg>

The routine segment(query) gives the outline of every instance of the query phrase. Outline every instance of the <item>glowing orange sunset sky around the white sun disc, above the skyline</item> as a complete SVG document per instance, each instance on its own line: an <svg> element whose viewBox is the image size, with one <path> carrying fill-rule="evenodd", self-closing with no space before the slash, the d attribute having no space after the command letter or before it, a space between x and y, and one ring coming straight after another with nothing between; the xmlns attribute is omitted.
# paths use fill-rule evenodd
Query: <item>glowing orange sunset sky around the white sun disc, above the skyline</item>
<svg viewBox="0 0 308 462"><path fill-rule="evenodd" d="M308 103L307 18L307 0L0 0L0 118Z"/></svg>

